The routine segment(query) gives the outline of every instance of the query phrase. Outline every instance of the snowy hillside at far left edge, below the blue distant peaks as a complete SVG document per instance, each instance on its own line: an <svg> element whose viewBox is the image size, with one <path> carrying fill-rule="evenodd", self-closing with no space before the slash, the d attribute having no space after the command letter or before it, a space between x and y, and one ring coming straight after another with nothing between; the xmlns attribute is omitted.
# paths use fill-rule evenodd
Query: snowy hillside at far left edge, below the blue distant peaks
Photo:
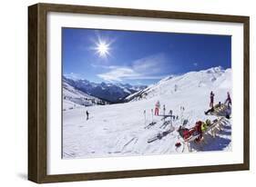
<svg viewBox="0 0 256 187"><path fill-rule="evenodd" d="M63 110L74 109L75 107L80 106L92 106L97 104L108 104L103 100L98 99L97 97L91 96L89 94L85 94L72 85L68 84L68 82L64 79L62 83L62 91L63 91Z"/></svg>

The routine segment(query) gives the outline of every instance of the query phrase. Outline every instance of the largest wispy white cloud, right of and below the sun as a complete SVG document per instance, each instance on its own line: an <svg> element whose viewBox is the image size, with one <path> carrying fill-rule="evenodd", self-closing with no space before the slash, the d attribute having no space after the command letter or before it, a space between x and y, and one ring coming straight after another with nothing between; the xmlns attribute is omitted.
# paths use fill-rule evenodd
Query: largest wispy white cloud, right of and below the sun
<svg viewBox="0 0 256 187"><path fill-rule="evenodd" d="M109 71L104 74L97 74L97 76L109 82L120 82L124 79L161 79L166 76L162 72L167 63L164 54L155 54L138 59L130 66L101 66L109 69Z"/></svg>

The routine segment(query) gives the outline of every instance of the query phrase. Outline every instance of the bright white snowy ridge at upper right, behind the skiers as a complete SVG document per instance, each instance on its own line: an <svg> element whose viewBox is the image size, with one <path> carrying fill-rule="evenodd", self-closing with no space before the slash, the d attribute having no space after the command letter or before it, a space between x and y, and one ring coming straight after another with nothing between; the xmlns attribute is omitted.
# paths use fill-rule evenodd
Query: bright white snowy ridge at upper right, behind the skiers
<svg viewBox="0 0 256 187"><path fill-rule="evenodd" d="M168 76L157 84L149 85L148 88L130 94L126 101L138 101L141 99L149 99L156 95L182 93L188 90L197 90L199 88L214 88L216 86L230 88L230 80L226 80L226 76L230 76L231 70L223 70L221 67L213 67L200 72L189 72L179 76ZM222 83L225 81L225 83ZM181 94L180 93L180 94Z"/></svg>

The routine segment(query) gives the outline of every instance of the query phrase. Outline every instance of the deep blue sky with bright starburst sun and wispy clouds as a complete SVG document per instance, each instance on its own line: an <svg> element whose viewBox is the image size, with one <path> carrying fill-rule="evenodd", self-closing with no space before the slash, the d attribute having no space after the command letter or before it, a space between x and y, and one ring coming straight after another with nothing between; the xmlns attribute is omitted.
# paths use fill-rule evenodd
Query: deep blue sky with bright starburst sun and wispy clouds
<svg viewBox="0 0 256 187"><path fill-rule="evenodd" d="M62 29L63 74L90 82L153 84L171 74L231 67L231 36Z"/></svg>

